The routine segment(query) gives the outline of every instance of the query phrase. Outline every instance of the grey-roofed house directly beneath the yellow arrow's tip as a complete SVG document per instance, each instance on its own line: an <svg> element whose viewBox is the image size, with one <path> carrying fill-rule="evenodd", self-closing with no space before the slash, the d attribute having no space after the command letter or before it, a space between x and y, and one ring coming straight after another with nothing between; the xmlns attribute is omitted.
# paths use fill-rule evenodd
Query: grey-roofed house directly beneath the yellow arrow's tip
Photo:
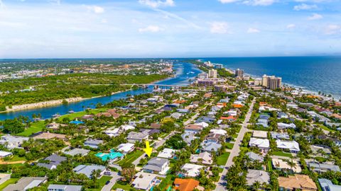
<svg viewBox="0 0 341 191"><path fill-rule="evenodd" d="M143 168L146 173L165 175L169 170L169 161L166 158L151 158Z"/></svg>

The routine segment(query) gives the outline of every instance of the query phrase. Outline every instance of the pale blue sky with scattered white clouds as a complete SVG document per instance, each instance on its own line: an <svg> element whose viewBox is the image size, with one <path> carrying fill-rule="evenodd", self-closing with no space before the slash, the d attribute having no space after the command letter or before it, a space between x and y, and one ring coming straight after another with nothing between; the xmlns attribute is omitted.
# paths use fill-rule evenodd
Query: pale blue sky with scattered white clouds
<svg viewBox="0 0 341 191"><path fill-rule="evenodd" d="M0 59L341 55L341 0L0 0Z"/></svg>

